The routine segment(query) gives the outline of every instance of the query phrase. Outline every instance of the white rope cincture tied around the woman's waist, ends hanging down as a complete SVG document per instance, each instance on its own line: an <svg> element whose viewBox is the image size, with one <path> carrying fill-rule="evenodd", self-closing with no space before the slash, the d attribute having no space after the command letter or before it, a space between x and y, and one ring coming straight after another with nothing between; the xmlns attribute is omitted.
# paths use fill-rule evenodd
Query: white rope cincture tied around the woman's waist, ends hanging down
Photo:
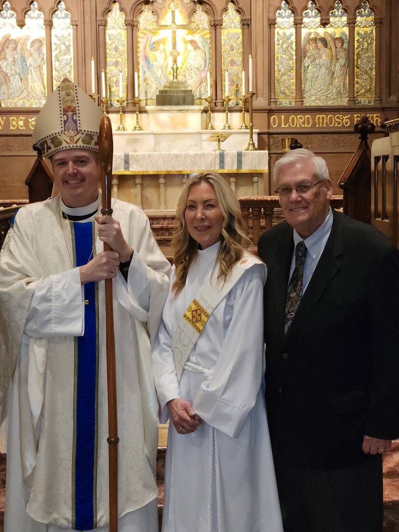
<svg viewBox="0 0 399 532"><path fill-rule="evenodd" d="M213 373L213 369L203 368L197 364L193 364L192 362L186 362L184 369L192 371L193 373L203 373L206 378L210 378ZM206 504L207 532L216 532L215 530L212 530L213 461L215 463L215 491L218 523L217 532L223 532L218 431L211 425L208 425L208 496Z"/></svg>

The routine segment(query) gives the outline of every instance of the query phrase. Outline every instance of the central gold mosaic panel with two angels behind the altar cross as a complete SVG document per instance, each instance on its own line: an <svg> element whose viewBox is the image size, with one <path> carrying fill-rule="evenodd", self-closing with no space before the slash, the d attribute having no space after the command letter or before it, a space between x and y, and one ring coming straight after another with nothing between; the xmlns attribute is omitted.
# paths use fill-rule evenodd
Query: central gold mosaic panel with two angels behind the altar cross
<svg viewBox="0 0 399 532"><path fill-rule="evenodd" d="M177 57L178 80L192 89L195 103L202 104L207 97L210 41L209 17L201 5L190 23L184 21L176 2L168 4L160 23L145 5L138 25L138 77L140 98L146 105L155 105L158 91L172 82L173 55Z"/></svg>

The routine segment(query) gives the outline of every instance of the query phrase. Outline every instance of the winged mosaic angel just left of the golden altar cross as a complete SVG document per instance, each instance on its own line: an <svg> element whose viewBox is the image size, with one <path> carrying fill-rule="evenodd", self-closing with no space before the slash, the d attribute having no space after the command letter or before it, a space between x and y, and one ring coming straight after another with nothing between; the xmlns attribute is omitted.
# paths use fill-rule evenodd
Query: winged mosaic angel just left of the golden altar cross
<svg viewBox="0 0 399 532"><path fill-rule="evenodd" d="M167 67L168 56L165 50L166 39L161 37L155 40L149 34L143 38L140 50L140 66L142 79L144 80L143 91L146 94L140 95L143 98L155 98L156 93L168 82Z"/></svg>

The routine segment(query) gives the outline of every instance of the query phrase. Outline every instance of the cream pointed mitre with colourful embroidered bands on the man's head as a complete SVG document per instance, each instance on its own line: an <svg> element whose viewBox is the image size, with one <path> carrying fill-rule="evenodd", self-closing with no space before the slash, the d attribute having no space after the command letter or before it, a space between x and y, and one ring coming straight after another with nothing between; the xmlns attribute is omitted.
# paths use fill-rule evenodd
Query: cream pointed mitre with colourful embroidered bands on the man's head
<svg viewBox="0 0 399 532"><path fill-rule="evenodd" d="M102 116L92 98L65 78L41 109L33 137L45 157L68 148L98 152Z"/></svg>

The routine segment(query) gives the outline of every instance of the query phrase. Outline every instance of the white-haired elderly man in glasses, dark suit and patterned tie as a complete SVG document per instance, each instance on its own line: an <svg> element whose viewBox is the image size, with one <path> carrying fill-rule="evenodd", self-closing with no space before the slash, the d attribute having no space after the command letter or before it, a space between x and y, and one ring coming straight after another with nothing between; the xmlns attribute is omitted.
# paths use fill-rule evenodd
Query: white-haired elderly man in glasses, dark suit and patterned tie
<svg viewBox="0 0 399 532"><path fill-rule="evenodd" d="M259 240L266 404L285 532L376 532L381 457L399 436L399 252L332 211L326 162L273 170L280 223Z"/></svg>

